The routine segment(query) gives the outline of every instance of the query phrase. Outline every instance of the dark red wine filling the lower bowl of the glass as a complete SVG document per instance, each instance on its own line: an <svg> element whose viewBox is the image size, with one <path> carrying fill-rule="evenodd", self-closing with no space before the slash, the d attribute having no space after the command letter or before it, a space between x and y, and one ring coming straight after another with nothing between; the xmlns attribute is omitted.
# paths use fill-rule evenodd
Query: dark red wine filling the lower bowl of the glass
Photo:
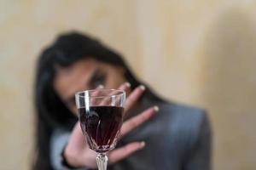
<svg viewBox="0 0 256 170"><path fill-rule="evenodd" d="M119 106L90 106L79 108L82 131L91 150L103 153L113 150L122 125L124 108Z"/></svg>

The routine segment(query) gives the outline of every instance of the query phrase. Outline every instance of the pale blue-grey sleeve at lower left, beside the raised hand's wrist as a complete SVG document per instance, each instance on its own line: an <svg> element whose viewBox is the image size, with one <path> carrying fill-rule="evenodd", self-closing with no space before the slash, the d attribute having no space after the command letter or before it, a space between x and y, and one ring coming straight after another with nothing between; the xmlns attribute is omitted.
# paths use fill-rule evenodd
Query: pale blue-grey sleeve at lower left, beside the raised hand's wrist
<svg viewBox="0 0 256 170"><path fill-rule="evenodd" d="M87 168L73 168L69 169L68 167L62 164L62 151L64 150L68 139L70 136L70 132L56 129L51 136L50 139L50 161L51 165L55 170L88 170Z"/></svg>

